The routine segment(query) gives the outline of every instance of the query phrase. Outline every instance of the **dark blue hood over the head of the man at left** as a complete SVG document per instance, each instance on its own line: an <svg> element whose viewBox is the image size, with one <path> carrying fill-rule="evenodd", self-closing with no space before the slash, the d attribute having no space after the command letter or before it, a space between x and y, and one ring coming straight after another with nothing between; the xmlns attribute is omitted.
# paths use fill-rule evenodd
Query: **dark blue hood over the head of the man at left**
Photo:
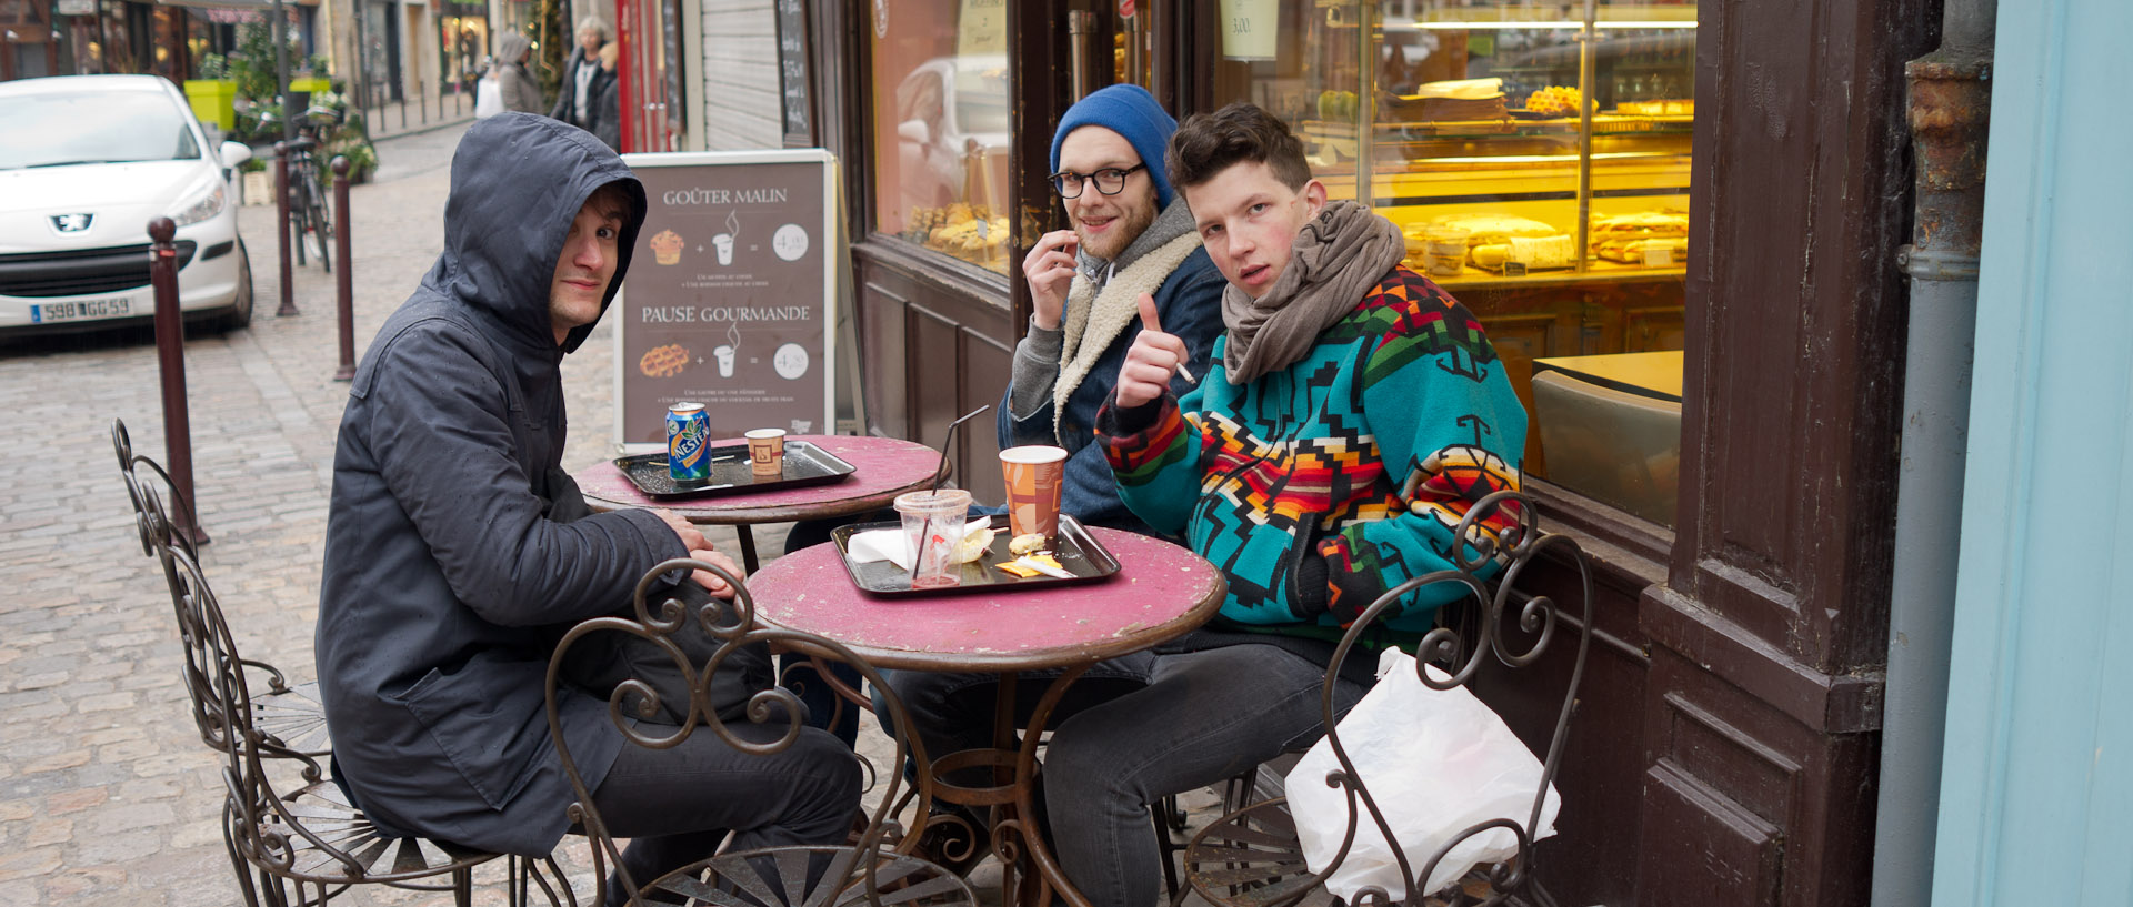
<svg viewBox="0 0 2133 907"><path fill-rule="evenodd" d="M548 290L563 238L595 189L621 183L629 198L616 243L614 279L602 313L623 287L644 228L644 183L576 126L533 113L480 119L452 153L452 196L444 204L444 253L422 283L476 309L531 349L555 349ZM563 339L570 353L593 326Z"/></svg>

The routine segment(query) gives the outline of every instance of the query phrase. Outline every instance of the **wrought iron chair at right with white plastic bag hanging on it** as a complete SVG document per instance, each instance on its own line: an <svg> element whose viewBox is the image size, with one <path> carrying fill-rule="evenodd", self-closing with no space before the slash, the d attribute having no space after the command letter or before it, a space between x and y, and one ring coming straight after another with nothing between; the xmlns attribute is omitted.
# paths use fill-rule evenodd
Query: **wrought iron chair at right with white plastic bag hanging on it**
<svg viewBox="0 0 2133 907"><path fill-rule="evenodd" d="M1512 522L1499 537L1478 530L1480 520L1497 515ZM1293 907L1305 903L1308 898L1329 901L1331 896L1320 886L1348 856L1363 815L1367 815L1389 841L1393 839L1386 830L1384 811L1357 777L1354 760L1342 745L1337 728L1340 715L1333 705L1333 681L1340 677L1342 662L1357 647L1363 632L1369 630L1369 626L1401 598L1423 586L1457 583L1465 590L1463 598L1440 609L1440 626L1427 632L1416 647L1416 671L1421 673L1421 681L1431 690L1450 690L1472 683L1489 658L1502 662L1506 669L1531 666L1546 654L1557 630L1576 632L1576 654L1570 666L1570 683L1563 690L1561 709L1555 718L1555 730L1542 760L1542 777L1540 786L1534 790L1534 807L1523 822L1514 818L1499 818L1463 828L1438 847L1436 854L1406 854L1395 843L1393 854L1399 862L1399 873L1406 879L1404 890L1386 892L1365 888L1352 901L1376 907L1389 903L1412 907L1502 903L1555 905L1536 877L1531 826L1540 822L1542 801L1546 798L1549 786L1555 781L1557 760L1563 754L1570 715L1576 707L1578 679L1585 673L1585 652L1591 643L1591 566L1587 564L1576 541L1566 534L1540 532L1531 498L1519 492L1495 492L1476 502L1459 522L1457 539L1465 541L1457 545L1457 551L1453 551L1453 562L1457 564L1455 568L1410 579L1372 603L1361 617L1350 624L1333 654L1333 662L1327 666L1320 705L1325 709L1327 743L1331 745L1342 769L1327 773L1325 784L1329 788L1340 788L1348 803L1346 832L1333 860L1318 871L1312 871L1305 864L1303 847L1297 843L1297 826L1288 813L1286 798L1273 798L1222 815L1192 837L1192 843L1186 845L1186 875L1190 890L1199 892L1209 903L1224 907ZM1583 613L1572 617L1576 622L1572 628L1557 626L1563 611L1553 598L1546 594L1527 596L1519 592L1519 581L1527 577L1527 571L1531 571L1536 562L1542 560L1540 556L1551 549L1572 562L1578 573L1581 600L1576 605L1583 607ZM1485 581L1482 571L1495 562L1502 562L1502 575L1493 583ZM1523 639L1506 639L1512 632ZM1425 664L1444 666L1448 677L1431 677L1423 671ZM1361 803L1361 809L1357 809L1357 803ZM1476 867L1463 879L1440 892L1418 890L1423 879L1431 877L1438 862L1442 862L1453 847L1465 839L1497 828L1517 837L1517 856L1512 860ZM1184 892L1173 898L1173 905L1182 901Z"/></svg>

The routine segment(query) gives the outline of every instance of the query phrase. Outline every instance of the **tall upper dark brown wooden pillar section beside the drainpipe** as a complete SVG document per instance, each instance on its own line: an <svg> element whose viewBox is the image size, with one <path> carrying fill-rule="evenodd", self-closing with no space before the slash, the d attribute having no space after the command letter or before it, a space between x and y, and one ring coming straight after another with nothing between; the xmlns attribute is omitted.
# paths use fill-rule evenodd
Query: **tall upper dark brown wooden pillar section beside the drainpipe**
<svg viewBox="0 0 2133 907"><path fill-rule="evenodd" d="M1670 586L1824 671L1877 664L1909 238L1903 62L1928 0L1704 4L1683 556Z"/></svg>

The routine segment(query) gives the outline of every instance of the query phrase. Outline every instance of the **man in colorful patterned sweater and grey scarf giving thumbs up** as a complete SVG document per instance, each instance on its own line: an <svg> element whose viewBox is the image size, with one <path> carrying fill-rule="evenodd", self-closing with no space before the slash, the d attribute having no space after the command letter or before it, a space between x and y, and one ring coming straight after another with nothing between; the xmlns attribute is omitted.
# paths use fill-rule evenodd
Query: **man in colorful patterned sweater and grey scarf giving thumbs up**
<svg viewBox="0 0 2133 907"><path fill-rule="evenodd" d="M1101 907L1158 901L1145 805L1301 747L1342 626L1448 564L1459 515L1517 488L1525 411L1480 324L1399 264L1399 228L1327 202L1303 147L1252 104L1194 115L1169 175L1229 279L1214 364L1175 396L1186 345L1154 311L1096 417L1120 496L1222 568L1220 617L1152 654L1150 683L1058 724L1052 841ZM1450 594L1389 622L1423 632ZM1337 700L1369 683L1344 671ZM1361 675L1361 677L1359 677Z"/></svg>

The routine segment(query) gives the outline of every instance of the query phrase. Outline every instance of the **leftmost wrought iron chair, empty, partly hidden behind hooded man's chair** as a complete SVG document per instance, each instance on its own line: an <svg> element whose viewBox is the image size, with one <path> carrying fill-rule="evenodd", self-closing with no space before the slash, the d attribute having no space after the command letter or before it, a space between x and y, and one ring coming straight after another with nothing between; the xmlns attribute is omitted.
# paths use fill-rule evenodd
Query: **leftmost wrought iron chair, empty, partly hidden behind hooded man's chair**
<svg viewBox="0 0 2133 907"><path fill-rule="evenodd" d="M171 473L166 473L156 460L132 451L126 419L111 419L111 447L119 460L119 479L126 481L126 498L134 509L134 528L141 532L141 554L154 556L160 545L169 545L183 551L194 564L198 564L201 554L192 545L192 539L186 537L186 532L179 532L173 520L164 520L166 511L162 511L160 502L164 492L179 509L192 507L192 502L177 492L177 485L171 483ZM158 481L145 481L141 475L143 466L154 473ZM171 573L169 562L164 562L164 581L171 583L171 596L175 600L181 590L179 577ZM183 615L179 617L179 630L183 632ZM188 645L186 652L190 658L192 647ZM282 669L260 660L245 660L243 666L252 671L254 683L262 686L252 700L252 715L256 728L264 735L264 752L269 756L324 758L326 752L333 749L333 741L326 737L326 711L318 700L318 683L292 686ZM220 724L222 715L211 703L211 692L203 686L203 664L192 660L186 662L186 694L192 700L192 720L201 730L201 741L222 752L230 747L230 735L228 728Z"/></svg>

